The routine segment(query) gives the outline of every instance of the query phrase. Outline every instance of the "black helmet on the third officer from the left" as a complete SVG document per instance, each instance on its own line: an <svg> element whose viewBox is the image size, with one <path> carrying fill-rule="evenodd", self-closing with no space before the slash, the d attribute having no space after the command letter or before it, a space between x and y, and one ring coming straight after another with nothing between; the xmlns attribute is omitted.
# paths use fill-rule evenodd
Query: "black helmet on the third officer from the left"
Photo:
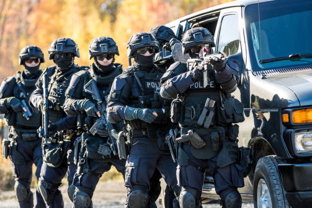
<svg viewBox="0 0 312 208"><path fill-rule="evenodd" d="M116 54L119 56L118 47L113 38L102 36L91 41L89 45L89 59L101 54Z"/></svg>

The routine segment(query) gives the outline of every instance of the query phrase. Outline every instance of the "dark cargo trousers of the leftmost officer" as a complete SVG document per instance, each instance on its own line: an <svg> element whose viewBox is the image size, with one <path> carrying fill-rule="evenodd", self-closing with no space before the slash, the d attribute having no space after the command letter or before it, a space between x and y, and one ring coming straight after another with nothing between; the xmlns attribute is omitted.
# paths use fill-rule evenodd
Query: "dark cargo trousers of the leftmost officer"
<svg viewBox="0 0 312 208"><path fill-rule="evenodd" d="M13 177L15 178L16 183L20 183L27 188L27 191L30 194L28 200L19 202L19 206L21 208L45 207L44 200L42 199L40 193L36 191L36 200L34 203L33 193L30 191L33 175L33 163L37 167L35 173L37 179L39 179L40 169L42 166L41 139L37 139L35 141L24 141L22 138L17 137L16 143L16 153L20 153L23 160L16 160L16 157L14 156L11 157Z"/></svg>

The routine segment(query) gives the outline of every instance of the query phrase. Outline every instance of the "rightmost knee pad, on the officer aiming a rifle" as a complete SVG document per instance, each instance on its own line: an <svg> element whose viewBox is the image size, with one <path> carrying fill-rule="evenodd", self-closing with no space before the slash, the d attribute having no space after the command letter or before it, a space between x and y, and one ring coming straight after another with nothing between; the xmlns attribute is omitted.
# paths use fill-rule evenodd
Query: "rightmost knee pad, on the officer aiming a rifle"
<svg viewBox="0 0 312 208"><path fill-rule="evenodd" d="M224 208L240 208L242 207L242 197L237 188L230 188L220 193L222 199L222 207Z"/></svg>

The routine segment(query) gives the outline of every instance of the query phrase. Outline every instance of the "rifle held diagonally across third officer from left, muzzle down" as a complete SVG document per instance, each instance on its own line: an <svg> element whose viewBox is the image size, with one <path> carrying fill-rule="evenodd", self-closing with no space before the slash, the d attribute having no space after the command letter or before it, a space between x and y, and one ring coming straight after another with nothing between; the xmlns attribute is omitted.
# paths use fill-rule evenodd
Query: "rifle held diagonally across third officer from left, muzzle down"
<svg viewBox="0 0 312 208"><path fill-rule="evenodd" d="M106 119L106 104L102 99L101 99L101 96L98 92L98 89L97 89L97 86L96 86L96 82L95 80L90 80L85 86L84 86L84 90L87 92L87 93L90 93L92 95L92 98L96 100L96 105L97 105L97 108L100 112L100 118L96 120L96 122L93 124L93 126L90 128L89 132L94 136L96 134L96 131L97 131L97 125L99 123L102 123L106 126L106 131L109 135L109 138L107 140L107 143L110 145L114 155L117 155L117 151L116 151L116 139L112 136L112 133L111 131L114 129L113 128L113 125L107 121ZM106 98L105 98L106 99Z"/></svg>

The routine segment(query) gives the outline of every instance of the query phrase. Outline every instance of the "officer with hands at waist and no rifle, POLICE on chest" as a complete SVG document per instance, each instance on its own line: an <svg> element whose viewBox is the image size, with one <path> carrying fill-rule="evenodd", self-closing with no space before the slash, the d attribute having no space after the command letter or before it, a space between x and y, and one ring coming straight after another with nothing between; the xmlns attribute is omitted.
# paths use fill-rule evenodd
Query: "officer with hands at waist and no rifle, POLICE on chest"
<svg viewBox="0 0 312 208"><path fill-rule="evenodd" d="M150 33L134 34L127 43L127 56L134 57L134 62L115 78L108 98L108 120L111 123L124 120L132 135L126 162L125 207L151 206L148 191L155 167L176 195L179 194L176 164L165 144L165 136L172 126L168 119L170 102L159 96L164 69L153 64L158 50L158 42Z"/></svg>

